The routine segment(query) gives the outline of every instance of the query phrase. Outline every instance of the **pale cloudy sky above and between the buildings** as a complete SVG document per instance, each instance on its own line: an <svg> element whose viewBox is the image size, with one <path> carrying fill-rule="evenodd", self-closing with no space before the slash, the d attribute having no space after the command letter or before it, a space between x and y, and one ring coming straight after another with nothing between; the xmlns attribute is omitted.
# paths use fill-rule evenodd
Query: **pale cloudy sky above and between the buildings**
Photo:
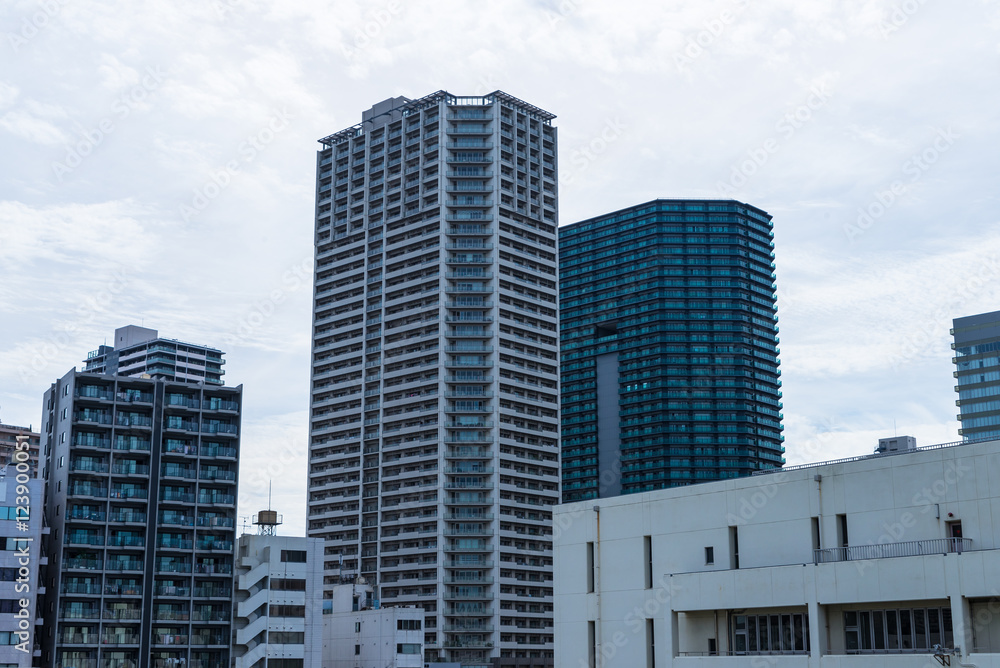
<svg viewBox="0 0 1000 668"><path fill-rule="evenodd" d="M8 0L0 420L115 327L225 350L241 515L304 530L316 140L397 95L555 113L560 218L774 216L789 463L957 439L1000 309L996 0Z"/></svg>

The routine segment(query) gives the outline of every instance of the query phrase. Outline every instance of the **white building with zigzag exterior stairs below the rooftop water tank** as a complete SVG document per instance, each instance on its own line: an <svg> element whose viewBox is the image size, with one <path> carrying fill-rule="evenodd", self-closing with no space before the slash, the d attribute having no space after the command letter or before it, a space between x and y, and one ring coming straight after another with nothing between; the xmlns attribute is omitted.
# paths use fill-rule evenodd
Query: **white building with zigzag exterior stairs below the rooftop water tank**
<svg viewBox="0 0 1000 668"><path fill-rule="evenodd" d="M236 573L236 668L320 668L323 542L245 534Z"/></svg>

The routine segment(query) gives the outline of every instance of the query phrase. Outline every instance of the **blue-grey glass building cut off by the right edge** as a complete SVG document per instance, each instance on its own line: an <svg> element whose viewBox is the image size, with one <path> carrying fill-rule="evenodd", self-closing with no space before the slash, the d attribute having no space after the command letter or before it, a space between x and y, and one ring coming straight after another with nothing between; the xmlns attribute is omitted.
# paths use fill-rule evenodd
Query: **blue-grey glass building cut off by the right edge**
<svg viewBox="0 0 1000 668"><path fill-rule="evenodd" d="M1000 311L955 318L958 433L966 441L1000 438Z"/></svg>

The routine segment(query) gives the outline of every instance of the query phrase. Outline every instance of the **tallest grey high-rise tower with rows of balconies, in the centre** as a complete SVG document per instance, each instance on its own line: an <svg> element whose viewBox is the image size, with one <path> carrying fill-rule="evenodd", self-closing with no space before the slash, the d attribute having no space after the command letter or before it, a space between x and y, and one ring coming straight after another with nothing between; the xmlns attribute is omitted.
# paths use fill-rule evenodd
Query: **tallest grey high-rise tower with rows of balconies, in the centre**
<svg viewBox="0 0 1000 668"><path fill-rule="evenodd" d="M327 585L426 613L426 658L551 663L556 130L394 98L317 156L308 534Z"/></svg>

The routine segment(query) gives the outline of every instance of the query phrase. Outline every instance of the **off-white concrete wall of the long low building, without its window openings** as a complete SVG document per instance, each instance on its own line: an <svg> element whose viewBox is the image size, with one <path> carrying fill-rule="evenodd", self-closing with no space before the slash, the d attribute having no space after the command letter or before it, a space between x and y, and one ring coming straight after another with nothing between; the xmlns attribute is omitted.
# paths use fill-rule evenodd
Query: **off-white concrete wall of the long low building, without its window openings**
<svg viewBox="0 0 1000 668"><path fill-rule="evenodd" d="M822 547L829 548L838 544L838 515L846 515L849 545L862 551L883 545L871 552L879 558L815 563L812 518L819 518ZM943 539L950 521L961 521L971 550L949 553ZM1000 442L566 504L557 508L554 524L558 666L587 665L588 621L596 623L607 657L598 665L641 667L647 665L645 623L652 619L662 667L738 658L680 656L707 650L716 612L726 620L718 637L723 651L731 611L807 610L815 656L783 657L789 665L821 657L824 665L901 665L899 657L830 654L843 651L843 630L831 626L828 643L826 620L842 617L845 606L931 601L951 607L955 619L964 620L955 641L964 648L972 647L973 628L977 645L985 642L980 637L993 638L1000 619L992 614L977 626L967 609L970 598L1000 598ZM738 570L730 561L734 528ZM652 542L651 588L645 586L644 536ZM593 593L587 592L588 542L596 553ZM708 546L715 553L711 564ZM928 554L882 558L918 548Z"/></svg>

